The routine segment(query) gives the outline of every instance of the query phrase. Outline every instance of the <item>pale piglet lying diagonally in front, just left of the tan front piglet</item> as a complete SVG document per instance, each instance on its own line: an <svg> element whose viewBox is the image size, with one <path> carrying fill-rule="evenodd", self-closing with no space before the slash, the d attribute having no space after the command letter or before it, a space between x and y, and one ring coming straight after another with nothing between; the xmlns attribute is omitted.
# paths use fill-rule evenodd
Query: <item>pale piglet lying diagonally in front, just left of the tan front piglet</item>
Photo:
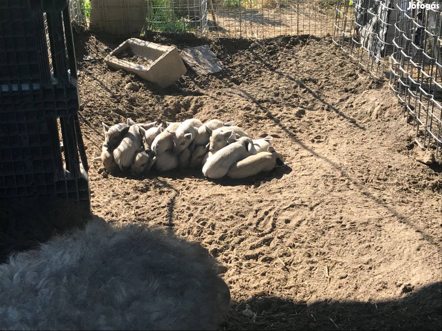
<svg viewBox="0 0 442 331"><path fill-rule="evenodd" d="M207 158L202 167L204 176L218 179L227 174L230 166L243 158L247 158L252 150L252 141L249 137L235 139L229 146L218 150L215 154Z"/></svg>

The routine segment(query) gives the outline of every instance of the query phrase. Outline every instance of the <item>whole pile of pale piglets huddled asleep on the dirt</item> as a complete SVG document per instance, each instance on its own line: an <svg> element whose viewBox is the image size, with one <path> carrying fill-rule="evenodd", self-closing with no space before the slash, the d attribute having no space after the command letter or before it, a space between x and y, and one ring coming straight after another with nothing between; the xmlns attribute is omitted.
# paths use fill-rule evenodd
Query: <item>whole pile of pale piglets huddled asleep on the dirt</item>
<svg viewBox="0 0 442 331"><path fill-rule="evenodd" d="M233 121L196 118L183 122L138 123L111 127L103 123L104 143L101 156L110 173L122 171L133 176L152 169L168 171L175 168L202 167L204 176L245 178L261 171L284 165L284 158L272 144L272 137L252 140Z"/></svg>

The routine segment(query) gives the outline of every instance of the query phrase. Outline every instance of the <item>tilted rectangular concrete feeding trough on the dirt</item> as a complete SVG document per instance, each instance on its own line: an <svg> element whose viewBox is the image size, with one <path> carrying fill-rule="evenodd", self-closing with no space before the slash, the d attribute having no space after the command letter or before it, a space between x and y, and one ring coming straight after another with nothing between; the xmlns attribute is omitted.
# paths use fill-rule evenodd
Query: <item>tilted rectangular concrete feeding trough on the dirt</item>
<svg viewBox="0 0 442 331"><path fill-rule="evenodd" d="M128 50L142 58L141 61L133 62L117 57ZM124 41L110 52L104 61L114 69L133 72L142 79L157 83L160 87L172 85L187 71L175 46L158 45L137 38Z"/></svg>

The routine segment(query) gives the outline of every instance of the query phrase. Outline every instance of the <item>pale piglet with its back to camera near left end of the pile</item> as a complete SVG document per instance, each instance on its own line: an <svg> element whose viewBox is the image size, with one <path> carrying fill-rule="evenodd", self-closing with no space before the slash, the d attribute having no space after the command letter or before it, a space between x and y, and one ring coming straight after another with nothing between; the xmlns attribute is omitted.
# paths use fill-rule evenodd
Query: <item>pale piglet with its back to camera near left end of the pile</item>
<svg viewBox="0 0 442 331"><path fill-rule="evenodd" d="M133 120L128 119L130 124L129 132L126 133L121 143L114 149L114 160L118 168L124 171L132 165L133 158L137 154L137 150L142 145L142 137L145 136L146 130L135 124Z"/></svg>

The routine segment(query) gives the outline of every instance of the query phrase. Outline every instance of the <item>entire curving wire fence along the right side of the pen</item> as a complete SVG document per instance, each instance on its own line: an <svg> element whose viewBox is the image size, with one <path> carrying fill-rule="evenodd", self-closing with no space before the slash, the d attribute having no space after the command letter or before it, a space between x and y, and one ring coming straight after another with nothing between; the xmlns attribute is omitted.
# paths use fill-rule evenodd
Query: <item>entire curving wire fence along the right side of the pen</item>
<svg viewBox="0 0 442 331"><path fill-rule="evenodd" d="M333 41L374 77L389 76L416 143L435 150L436 157L442 156L441 35L437 1L338 0L336 5Z"/></svg>

